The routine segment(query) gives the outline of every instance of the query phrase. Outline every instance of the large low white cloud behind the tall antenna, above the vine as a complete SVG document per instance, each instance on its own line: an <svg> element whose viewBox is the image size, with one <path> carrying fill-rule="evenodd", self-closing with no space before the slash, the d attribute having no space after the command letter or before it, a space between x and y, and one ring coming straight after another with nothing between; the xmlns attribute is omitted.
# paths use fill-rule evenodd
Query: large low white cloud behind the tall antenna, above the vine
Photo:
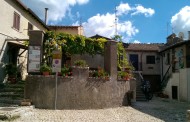
<svg viewBox="0 0 190 122"><path fill-rule="evenodd" d="M105 37L113 37L115 35L115 15L114 14L97 14L83 23L86 36L93 36L99 34ZM74 25L76 25L75 23ZM133 26L132 22L125 21L124 23L118 23L117 31L119 34L124 34L127 37L136 35L139 30Z"/></svg>

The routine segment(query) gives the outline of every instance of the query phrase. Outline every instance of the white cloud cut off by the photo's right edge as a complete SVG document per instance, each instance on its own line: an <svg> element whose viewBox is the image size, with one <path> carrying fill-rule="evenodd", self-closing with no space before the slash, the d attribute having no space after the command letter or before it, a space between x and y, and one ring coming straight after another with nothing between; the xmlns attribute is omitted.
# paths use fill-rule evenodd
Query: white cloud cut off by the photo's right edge
<svg viewBox="0 0 190 122"><path fill-rule="evenodd" d="M190 6L185 6L176 13L171 19L171 24L175 33L183 32L187 39L187 32L190 31Z"/></svg>

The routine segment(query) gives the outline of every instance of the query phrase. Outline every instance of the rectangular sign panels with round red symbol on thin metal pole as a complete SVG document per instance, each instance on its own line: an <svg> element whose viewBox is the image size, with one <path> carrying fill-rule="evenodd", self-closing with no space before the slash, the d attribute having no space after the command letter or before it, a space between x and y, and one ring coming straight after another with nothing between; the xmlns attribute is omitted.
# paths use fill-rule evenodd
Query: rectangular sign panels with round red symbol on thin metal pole
<svg viewBox="0 0 190 122"><path fill-rule="evenodd" d="M61 72L61 52L53 51L52 71Z"/></svg>

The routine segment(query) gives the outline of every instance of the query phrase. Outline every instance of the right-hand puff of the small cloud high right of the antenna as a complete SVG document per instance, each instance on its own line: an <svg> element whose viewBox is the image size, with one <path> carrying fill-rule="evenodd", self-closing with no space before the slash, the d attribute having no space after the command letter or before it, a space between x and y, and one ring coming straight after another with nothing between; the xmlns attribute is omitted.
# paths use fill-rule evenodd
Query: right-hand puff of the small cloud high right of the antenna
<svg viewBox="0 0 190 122"><path fill-rule="evenodd" d="M145 17L150 17L155 13L152 8L144 8L142 5L137 5L131 15L144 14Z"/></svg>

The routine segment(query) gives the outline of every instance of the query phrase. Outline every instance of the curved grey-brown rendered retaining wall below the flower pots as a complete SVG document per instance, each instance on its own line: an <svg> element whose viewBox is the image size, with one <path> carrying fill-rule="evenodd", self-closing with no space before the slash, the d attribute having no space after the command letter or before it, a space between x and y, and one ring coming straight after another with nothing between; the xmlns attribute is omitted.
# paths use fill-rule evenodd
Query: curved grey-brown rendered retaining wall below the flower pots
<svg viewBox="0 0 190 122"><path fill-rule="evenodd" d="M58 77L57 109L99 109L128 105L126 95L130 90L129 81L89 78L88 74L88 68L73 68L72 77ZM134 82L131 86L135 87ZM55 90L55 76L27 76L25 98L31 99L35 107L55 109Z"/></svg>

